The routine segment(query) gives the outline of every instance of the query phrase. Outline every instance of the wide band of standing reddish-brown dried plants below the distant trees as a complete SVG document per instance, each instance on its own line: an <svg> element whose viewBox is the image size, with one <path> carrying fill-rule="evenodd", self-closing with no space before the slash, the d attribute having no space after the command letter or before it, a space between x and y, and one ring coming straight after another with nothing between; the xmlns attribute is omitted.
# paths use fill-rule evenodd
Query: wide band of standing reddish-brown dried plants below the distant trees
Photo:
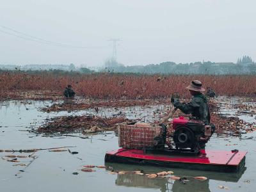
<svg viewBox="0 0 256 192"><path fill-rule="evenodd" d="M179 92L183 97L189 93L185 88L193 79L211 86L218 95L253 95L256 76L157 76L132 74L58 74L49 72L26 74L26 72L1 72L0 96L9 93L40 91L58 93L61 96L67 84L72 84L77 95L93 99L158 99ZM22 95L20 96L22 97ZM43 99L43 98L42 98Z"/></svg>

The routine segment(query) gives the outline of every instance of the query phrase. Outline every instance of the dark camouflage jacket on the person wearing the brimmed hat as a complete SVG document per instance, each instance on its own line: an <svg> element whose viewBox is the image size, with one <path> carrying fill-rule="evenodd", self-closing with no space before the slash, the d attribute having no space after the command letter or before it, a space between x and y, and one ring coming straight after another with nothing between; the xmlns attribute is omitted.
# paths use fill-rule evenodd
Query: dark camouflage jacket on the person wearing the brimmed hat
<svg viewBox="0 0 256 192"><path fill-rule="evenodd" d="M207 102L206 97L202 93L198 93L188 103L181 103L179 100L176 100L173 105L183 113L191 113L192 116L204 121L205 125L209 125L211 116Z"/></svg>

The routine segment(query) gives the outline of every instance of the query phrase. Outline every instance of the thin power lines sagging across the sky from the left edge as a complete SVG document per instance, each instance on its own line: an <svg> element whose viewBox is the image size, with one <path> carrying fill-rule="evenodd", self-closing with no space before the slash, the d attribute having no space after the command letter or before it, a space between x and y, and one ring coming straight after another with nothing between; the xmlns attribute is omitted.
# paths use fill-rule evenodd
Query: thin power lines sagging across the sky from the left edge
<svg viewBox="0 0 256 192"><path fill-rule="evenodd" d="M36 36L28 35L26 33L22 33L20 31L15 30L15 29L8 28L6 26L0 26L0 27L4 28L4 29L7 29L8 31L12 31L12 33L10 33L8 31L3 31L3 30L0 29L0 32L2 32L2 33L5 33L7 35L16 36L16 37L22 38L24 40L39 42L41 44L54 45L54 46L58 46L58 47L70 47L70 48L76 48L76 49L99 49L99 48L102 48L102 47L75 46L75 45L62 44L62 43L59 43L59 42L52 42L52 41L49 41L49 40L45 40L43 38L38 38ZM20 35L17 35L17 33L20 34Z"/></svg>

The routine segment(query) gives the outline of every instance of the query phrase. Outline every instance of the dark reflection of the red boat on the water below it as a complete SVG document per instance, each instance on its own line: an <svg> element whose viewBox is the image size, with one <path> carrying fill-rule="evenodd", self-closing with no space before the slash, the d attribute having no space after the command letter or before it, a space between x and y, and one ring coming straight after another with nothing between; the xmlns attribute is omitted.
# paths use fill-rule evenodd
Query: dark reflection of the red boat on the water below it
<svg viewBox="0 0 256 192"><path fill-rule="evenodd" d="M134 171L143 170L145 173L157 173L170 168L157 168L153 166L139 166L127 165L119 163L106 163L106 166L113 168L113 170ZM244 168L245 170L246 168ZM116 186L124 186L127 188L146 188L146 189L159 189L159 191L173 191L173 192L187 192L187 191L210 191L209 180L223 180L226 182L238 182L244 173L241 170L239 173L218 173L218 172L202 172L197 170L182 170L172 169L176 176L186 177L189 181L184 184L180 180L170 179L148 179L145 175L124 174L117 175L115 180ZM193 177L204 176L207 180L196 180Z"/></svg>

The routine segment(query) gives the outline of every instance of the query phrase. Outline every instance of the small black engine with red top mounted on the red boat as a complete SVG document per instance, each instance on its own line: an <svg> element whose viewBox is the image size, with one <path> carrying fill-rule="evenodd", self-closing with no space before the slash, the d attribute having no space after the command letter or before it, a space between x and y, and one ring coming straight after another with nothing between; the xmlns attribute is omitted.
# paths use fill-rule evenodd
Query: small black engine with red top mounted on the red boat
<svg viewBox="0 0 256 192"><path fill-rule="evenodd" d="M186 119L184 116L173 119L173 141L177 149L191 148L191 150L204 149L215 130L214 125L205 125L202 120Z"/></svg>

